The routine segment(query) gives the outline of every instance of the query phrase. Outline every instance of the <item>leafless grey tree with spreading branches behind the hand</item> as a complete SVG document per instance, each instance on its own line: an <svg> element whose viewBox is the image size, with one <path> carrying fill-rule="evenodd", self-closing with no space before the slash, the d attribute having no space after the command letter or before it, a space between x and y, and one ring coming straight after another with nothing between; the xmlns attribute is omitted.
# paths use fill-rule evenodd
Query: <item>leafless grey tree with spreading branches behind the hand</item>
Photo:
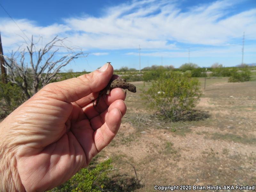
<svg viewBox="0 0 256 192"><path fill-rule="evenodd" d="M40 40L40 39L39 39ZM54 37L39 50L34 43L33 36L31 43L26 42L26 48L12 52L9 57L4 56L5 65L9 68L8 81L21 87L27 98L30 98L38 91L39 86L43 87L50 83L60 69L79 57L86 57L81 50L75 52L74 48L65 45L66 38ZM67 51L64 56L58 55L59 51Z"/></svg>

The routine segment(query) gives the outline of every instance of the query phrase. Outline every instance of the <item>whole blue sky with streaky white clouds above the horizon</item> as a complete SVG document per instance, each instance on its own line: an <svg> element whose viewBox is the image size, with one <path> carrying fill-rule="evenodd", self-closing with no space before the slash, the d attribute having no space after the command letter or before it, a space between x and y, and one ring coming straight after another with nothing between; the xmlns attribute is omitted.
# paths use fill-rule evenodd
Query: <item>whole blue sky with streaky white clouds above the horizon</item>
<svg viewBox="0 0 256 192"><path fill-rule="evenodd" d="M179 67L190 62L209 67L215 62L235 66L256 63L255 0L147 1L4 1L0 0L26 36L68 37L69 46L90 52L65 70L92 71L107 61L114 68L151 65ZM23 45L26 38L0 7L4 53ZM39 45L38 45L39 46ZM65 54L64 52L60 52ZM162 59L163 58L163 59Z"/></svg>

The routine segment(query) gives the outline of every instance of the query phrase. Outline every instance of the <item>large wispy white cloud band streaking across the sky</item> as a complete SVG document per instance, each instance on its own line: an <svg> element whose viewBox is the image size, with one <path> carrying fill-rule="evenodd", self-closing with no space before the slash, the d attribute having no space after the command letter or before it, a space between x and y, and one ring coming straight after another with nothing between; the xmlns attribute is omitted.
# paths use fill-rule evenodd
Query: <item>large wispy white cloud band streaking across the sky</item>
<svg viewBox="0 0 256 192"><path fill-rule="evenodd" d="M66 18L63 24L46 27L29 20L16 22L28 37L43 36L44 42L56 35L68 37L70 45L83 50L137 49L139 44L143 49L177 50L179 46L170 42L219 46L241 41L244 31L247 40L256 40L256 9L231 15L237 3L216 1L184 12L175 1L134 0L107 8L98 18ZM11 49L24 41L11 20L2 18L0 28L4 46Z"/></svg>

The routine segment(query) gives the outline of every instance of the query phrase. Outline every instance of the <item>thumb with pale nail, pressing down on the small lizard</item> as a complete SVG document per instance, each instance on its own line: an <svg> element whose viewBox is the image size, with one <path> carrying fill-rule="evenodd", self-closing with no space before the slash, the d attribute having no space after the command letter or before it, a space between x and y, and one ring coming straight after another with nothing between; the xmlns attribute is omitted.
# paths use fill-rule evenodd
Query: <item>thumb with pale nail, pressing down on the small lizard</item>
<svg viewBox="0 0 256 192"><path fill-rule="evenodd" d="M38 93L47 96L50 92L51 98L71 103L104 89L113 76L113 71L112 65L106 63L89 74L48 84Z"/></svg>

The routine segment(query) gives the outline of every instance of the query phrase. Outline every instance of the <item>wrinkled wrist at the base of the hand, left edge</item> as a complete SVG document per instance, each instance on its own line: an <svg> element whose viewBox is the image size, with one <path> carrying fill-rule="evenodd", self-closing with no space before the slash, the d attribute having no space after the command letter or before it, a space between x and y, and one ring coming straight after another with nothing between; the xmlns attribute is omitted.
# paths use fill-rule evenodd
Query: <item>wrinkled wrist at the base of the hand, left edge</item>
<svg viewBox="0 0 256 192"><path fill-rule="evenodd" d="M25 191L17 171L15 153L2 134L3 123L0 124L0 191Z"/></svg>

